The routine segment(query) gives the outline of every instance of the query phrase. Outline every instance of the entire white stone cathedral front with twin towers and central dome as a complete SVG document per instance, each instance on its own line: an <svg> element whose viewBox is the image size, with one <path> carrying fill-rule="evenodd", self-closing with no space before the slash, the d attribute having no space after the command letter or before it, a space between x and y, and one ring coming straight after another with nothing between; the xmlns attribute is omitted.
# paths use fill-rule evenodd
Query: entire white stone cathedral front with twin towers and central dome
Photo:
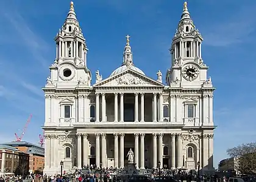
<svg viewBox="0 0 256 182"><path fill-rule="evenodd" d="M87 164L122 168L130 149L140 169L190 170L200 164L213 170L215 88L202 60L202 41L185 2L165 84L160 71L152 79L135 67L129 35L123 64L102 78L87 67L87 43L71 2L43 88L44 174L60 174L61 161L66 172Z"/></svg>

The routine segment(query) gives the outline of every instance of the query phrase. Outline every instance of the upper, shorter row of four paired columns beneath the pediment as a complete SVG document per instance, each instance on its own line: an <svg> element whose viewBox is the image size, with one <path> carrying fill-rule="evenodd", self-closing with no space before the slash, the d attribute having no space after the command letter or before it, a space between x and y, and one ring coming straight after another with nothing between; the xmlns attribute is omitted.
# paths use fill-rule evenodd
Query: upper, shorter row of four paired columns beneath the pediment
<svg viewBox="0 0 256 182"><path fill-rule="evenodd" d="M140 95L140 122L144 122L144 93L133 93L134 94L134 121L139 121L139 95ZM114 93L115 95L115 120L114 122L118 122L118 107L120 108L120 118L119 122L124 122L124 93ZM119 105L118 106L118 95L119 95ZM152 113L153 113L153 121L157 122L157 95L158 95L158 101L159 106L163 106L163 95L162 93L152 93L153 99L152 99ZM102 120L101 122L107 121L106 118L106 101L105 101L105 93L96 93L96 122L99 122L99 112L100 112L100 96L101 96L101 116ZM158 121L163 121L163 107L159 107L159 117Z"/></svg>

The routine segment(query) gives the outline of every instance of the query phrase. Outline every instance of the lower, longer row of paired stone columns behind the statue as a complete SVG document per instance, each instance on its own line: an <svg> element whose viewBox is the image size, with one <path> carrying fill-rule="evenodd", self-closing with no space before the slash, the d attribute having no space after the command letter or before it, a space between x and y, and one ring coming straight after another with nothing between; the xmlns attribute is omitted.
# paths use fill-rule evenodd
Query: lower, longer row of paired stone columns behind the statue
<svg viewBox="0 0 256 182"><path fill-rule="evenodd" d="M96 148L96 166L110 167L108 166L107 158L107 140L105 133L95 133L95 148ZM163 133L152 133L146 134L151 135L153 140L152 146L152 167L158 167L158 161L160 161L160 167L163 167ZM82 145L84 149L88 149L87 134L77 134L77 167L81 168L84 165L89 164L88 162L88 150L84 150L82 153ZM113 133L114 136L114 166L113 167L124 167L124 133ZM144 149L144 138L145 133L134 133L134 163L138 168L144 169L145 161L145 149ZM84 140L82 141L82 137ZM177 147L176 147L177 139ZM158 140L158 141L157 141ZM139 145L140 144L140 145ZM100 146L101 145L101 146ZM182 135L180 133L171 134L171 167L182 167ZM176 149L177 148L177 149ZM177 152L176 152L177 151ZM177 155L177 156L176 156ZM82 161L84 159L84 161ZM177 160L176 160L177 159ZM177 164L176 164L177 161Z"/></svg>

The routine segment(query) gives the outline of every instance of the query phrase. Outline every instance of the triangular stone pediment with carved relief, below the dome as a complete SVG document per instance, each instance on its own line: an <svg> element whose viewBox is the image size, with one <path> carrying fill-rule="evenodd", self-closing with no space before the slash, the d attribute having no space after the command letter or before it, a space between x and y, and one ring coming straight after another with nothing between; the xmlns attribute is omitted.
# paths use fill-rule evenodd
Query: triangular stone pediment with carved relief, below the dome
<svg viewBox="0 0 256 182"><path fill-rule="evenodd" d="M133 70L125 70L117 75L108 77L99 83L94 84L94 87L126 87L126 86L163 86L162 83L149 78L148 76L137 73Z"/></svg>

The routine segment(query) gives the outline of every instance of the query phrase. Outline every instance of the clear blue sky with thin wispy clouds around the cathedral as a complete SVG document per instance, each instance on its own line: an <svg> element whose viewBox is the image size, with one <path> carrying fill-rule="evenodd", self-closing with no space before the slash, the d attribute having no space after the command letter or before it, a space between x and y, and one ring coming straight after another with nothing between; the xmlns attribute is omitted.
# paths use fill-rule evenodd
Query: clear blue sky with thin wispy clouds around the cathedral
<svg viewBox="0 0 256 182"><path fill-rule="evenodd" d="M0 142L15 140L30 113L24 140L38 143L44 123L41 87L54 62L54 36L69 10L68 0L1 2ZM183 1L87 0L74 7L88 45L88 68L106 78L120 66L125 36L133 62L156 78L171 67L169 47ZM202 56L216 87L215 166L226 149L255 141L256 1L188 0L194 24L204 37Z"/></svg>

